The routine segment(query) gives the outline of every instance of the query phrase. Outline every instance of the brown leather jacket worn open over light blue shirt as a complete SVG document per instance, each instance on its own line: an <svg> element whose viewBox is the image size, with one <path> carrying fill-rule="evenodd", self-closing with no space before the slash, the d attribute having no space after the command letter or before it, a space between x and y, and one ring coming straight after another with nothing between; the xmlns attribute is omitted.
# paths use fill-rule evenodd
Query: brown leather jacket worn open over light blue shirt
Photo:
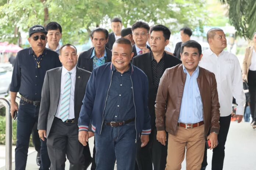
<svg viewBox="0 0 256 170"><path fill-rule="evenodd" d="M178 125L181 100L186 81L186 74L182 64L164 71L160 79L156 96L156 128L166 130L175 135ZM210 132L219 132L220 104L218 102L217 83L215 75L199 67L197 78L203 103L203 121L205 123L205 137Z"/></svg>

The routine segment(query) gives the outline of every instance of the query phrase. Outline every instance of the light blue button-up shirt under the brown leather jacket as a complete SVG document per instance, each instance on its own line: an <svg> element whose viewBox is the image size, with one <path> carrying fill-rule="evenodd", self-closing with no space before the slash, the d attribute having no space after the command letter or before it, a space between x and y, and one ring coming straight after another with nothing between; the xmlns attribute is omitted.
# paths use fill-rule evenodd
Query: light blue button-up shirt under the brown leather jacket
<svg viewBox="0 0 256 170"><path fill-rule="evenodd" d="M196 80L199 74L199 67L196 67L191 76L184 66L183 71L186 73L186 82L178 122L198 123L203 121L203 104Z"/></svg>

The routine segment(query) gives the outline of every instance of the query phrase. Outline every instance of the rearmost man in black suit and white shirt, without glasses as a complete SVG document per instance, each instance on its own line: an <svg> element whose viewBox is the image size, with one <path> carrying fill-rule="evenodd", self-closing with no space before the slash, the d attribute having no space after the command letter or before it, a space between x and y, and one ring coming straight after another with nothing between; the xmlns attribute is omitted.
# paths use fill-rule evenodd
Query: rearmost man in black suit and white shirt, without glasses
<svg viewBox="0 0 256 170"><path fill-rule="evenodd" d="M122 30L122 20L120 18L113 18L111 20L112 33L109 34L109 42L107 42L106 47L112 50L115 40L121 38Z"/></svg>

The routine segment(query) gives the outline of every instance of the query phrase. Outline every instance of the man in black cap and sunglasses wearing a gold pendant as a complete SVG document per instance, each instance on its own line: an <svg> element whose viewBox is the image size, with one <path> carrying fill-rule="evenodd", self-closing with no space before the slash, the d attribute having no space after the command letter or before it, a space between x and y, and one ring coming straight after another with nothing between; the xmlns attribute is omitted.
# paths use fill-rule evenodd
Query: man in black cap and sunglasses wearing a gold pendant
<svg viewBox="0 0 256 170"><path fill-rule="evenodd" d="M47 70L60 67L58 53L46 46L46 30L41 25L29 29L30 48L18 52L13 69L10 86L11 116L17 116L17 144L15 148L15 170L25 170L31 130L38 121L41 92ZM15 104L17 92L21 95L19 108ZM41 160L39 170L48 170L50 160L47 153L46 140L41 141Z"/></svg>

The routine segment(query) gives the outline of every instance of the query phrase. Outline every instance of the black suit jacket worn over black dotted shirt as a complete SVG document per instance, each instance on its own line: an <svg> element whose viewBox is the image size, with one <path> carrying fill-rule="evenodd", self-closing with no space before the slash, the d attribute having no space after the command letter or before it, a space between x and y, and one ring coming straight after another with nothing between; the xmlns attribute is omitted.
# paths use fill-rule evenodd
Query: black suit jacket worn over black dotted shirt
<svg viewBox="0 0 256 170"><path fill-rule="evenodd" d="M166 58L164 60L164 70L170 67L174 67L177 64L180 64L181 60L176 58L175 56L169 55L166 53ZM146 75L149 82L149 100L148 100L148 107L149 113L151 117L151 127L154 128L156 125L156 114L155 114L155 101L156 101L156 94L157 88L155 88L153 83L153 71L152 71L152 64L151 64L151 52L144 53L141 55L136 56L132 60L132 64L136 67L139 67Z"/></svg>

